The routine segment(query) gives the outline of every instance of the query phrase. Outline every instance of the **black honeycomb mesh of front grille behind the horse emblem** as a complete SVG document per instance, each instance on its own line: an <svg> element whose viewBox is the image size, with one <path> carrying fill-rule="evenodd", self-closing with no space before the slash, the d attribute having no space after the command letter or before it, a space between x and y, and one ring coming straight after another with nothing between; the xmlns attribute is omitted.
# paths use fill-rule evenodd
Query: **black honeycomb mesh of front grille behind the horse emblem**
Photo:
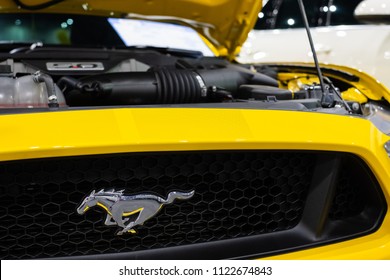
<svg viewBox="0 0 390 280"><path fill-rule="evenodd" d="M129 253L288 232L302 219L318 157L308 152L229 151L4 162L0 257ZM350 166L353 160L348 158L344 164ZM348 182L356 172L352 169L337 181L331 219L356 216L367 207L362 196L350 194L353 185ZM361 193L372 188L370 182L359 186ZM113 188L125 189L127 195L165 198L173 190L195 190L195 195L164 206L137 226L136 234L117 236L117 226L103 224L101 208L76 213L92 190ZM354 205L353 210L348 205Z"/></svg>

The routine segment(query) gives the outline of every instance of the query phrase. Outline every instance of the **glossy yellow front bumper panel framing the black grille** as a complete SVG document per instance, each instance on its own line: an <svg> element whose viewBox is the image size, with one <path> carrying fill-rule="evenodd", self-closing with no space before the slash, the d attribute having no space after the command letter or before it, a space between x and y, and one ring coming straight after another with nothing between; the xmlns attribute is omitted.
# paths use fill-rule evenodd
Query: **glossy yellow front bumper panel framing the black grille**
<svg viewBox="0 0 390 280"><path fill-rule="evenodd" d="M100 109L0 116L0 161L87 154L293 149L363 158L390 202L390 140L371 122L321 113L234 109ZM390 217L371 235L281 258L390 259Z"/></svg>

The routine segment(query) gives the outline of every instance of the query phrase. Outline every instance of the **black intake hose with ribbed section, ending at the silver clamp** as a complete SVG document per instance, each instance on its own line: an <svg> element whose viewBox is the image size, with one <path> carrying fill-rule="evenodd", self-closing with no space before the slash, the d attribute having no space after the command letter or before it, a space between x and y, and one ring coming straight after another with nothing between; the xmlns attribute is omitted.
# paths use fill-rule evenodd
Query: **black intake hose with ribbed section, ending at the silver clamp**
<svg viewBox="0 0 390 280"><path fill-rule="evenodd" d="M190 70L107 73L79 81L63 77L69 106L183 104L207 101L202 78Z"/></svg>

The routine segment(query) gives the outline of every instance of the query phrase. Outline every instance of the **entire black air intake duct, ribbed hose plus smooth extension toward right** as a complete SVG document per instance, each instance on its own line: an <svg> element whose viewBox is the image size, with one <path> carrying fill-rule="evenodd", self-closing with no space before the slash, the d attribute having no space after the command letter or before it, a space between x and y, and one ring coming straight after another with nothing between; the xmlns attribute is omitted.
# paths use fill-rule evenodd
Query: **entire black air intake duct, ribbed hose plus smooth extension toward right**
<svg viewBox="0 0 390 280"><path fill-rule="evenodd" d="M277 81L239 67L217 70L158 68L59 80L69 106L185 104L236 97L242 84L277 86ZM218 89L215 94L212 89Z"/></svg>

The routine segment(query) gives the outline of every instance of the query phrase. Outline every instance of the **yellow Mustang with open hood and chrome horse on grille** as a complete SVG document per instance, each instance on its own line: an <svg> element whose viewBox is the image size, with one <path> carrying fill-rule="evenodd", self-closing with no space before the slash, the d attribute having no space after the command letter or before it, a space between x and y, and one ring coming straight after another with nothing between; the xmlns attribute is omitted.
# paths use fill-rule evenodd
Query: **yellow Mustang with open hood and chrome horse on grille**
<svg viewBox="0 0 390 280"><path fill-rule="evenodd" d="M236 63L260 8L0 0L0 258L389 259L389 90Z"/></svg>

